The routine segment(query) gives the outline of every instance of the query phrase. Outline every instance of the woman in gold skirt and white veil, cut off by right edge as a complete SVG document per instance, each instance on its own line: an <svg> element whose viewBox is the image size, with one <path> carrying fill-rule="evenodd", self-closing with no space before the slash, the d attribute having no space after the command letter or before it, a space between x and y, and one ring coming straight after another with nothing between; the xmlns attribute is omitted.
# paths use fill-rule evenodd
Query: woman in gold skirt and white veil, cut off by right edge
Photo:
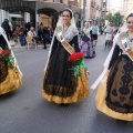
<svg viewBox="0 0 133 133"><path fill-rule="evenodd" d="M112 58L110 60L110 54L105 62L109 70L102 73L104 78L99 84L95 103L96 109L109 116L133 121L133 13L125 25L126 30L121 29L114 38Z"/></svg>

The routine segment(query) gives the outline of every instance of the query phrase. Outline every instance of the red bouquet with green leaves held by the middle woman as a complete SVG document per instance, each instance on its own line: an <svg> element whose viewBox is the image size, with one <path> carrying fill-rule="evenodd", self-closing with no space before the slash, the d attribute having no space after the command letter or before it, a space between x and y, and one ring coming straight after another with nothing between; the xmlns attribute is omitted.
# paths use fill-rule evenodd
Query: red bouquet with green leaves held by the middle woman
<svg viewBox="0 0 133 133"><path fill-rule="evenodd" d="M83 59L84 59L83 53L81 53L81 52L75 52L75 53L71 54L68 59L69 62L71 62L73 65L72 69L70 69L70 70L72 70L74 72L75 78L80 76L82 74L80 66L85 68L85 65L83 63ZM85 70L86 70L86 68L85 68Z"/></svg>

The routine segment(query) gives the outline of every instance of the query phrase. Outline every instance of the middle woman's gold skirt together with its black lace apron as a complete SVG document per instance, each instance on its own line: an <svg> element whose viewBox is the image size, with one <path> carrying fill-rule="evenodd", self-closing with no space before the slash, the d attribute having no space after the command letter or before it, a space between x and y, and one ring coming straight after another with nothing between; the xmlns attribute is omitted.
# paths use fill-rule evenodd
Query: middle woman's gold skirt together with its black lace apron
<svg viewBox="0 0 133 133"><path fill-rule="evenodd" d="M69 52L58 47L51 55L43 79L42 96L55 103L73 103L89 95L89 83L84 68L82 76L74 78Z"/></svg>

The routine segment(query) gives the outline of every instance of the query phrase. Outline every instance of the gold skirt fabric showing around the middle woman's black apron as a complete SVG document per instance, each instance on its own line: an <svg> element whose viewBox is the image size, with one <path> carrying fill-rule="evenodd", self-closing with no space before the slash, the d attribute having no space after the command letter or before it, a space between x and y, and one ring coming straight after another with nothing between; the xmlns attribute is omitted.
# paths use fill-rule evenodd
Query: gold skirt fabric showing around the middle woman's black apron
<svg viewBox="0 0 133 133"><path fill-rule="evenodd" d="M85 75L85 71L84 68L81 68L81 72L82 75L78 76L78 85L76 85L76 90L74 92L73 95L71 96L59 96L59 95L50 95L48 93L45 93L44 89L42 89L42 96L45 98L49 102L55 102L58 104L61 103L74 103L78 102L86 96L89 96L89 82ZM60 89L60 91L62 91L62 89ZM61 93L61 92L59 92Z"/></svg>

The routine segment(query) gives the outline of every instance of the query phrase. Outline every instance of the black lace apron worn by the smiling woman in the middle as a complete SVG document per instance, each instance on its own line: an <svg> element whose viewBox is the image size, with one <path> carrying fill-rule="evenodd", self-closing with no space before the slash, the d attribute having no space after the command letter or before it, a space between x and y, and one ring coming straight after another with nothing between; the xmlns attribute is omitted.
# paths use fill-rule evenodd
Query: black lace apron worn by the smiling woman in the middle
<svg viewBox="0 0 133 133"><path fill-rule="evenodd" d="M76 79L70 70L69 52L59 47L52 54L43 82L45 93L58 96L71 96L75 92Z"/></svg>

